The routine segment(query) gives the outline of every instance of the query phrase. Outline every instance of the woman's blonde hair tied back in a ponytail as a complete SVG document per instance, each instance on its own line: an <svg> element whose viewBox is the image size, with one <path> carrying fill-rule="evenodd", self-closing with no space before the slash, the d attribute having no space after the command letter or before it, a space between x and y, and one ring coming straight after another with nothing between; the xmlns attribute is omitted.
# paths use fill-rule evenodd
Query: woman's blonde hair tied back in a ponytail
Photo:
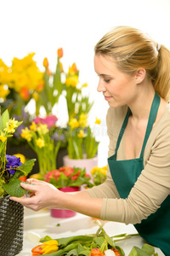
<svg viewBox="0 0 170 256"><path fill-rule="evenodd" d="M113 57L116 67L133 74L140 67L146 70L158 95L170 98L170 51L159 49L150 36L130 26L117 26L95 45L95 54Z"/></svg>

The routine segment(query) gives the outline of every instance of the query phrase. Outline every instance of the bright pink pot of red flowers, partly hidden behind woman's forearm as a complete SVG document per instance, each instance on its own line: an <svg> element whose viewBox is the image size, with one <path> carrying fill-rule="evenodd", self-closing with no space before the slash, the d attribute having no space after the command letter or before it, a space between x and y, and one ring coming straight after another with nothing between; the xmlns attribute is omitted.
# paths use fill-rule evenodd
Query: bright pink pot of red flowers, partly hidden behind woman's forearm
<svg viewBox="0 0 170 256"><path fill-rule="evenodd" d="M79 187L65 187L65 188L61 188L59 190L63 191L63 192L75 192L75 191L79 191L80 188ZM50 213L51 213L51 217L54 217L54 218L71 218L77 214L77 212L73 212L73 211L67 210L67 209L50 209Z"/></svg>

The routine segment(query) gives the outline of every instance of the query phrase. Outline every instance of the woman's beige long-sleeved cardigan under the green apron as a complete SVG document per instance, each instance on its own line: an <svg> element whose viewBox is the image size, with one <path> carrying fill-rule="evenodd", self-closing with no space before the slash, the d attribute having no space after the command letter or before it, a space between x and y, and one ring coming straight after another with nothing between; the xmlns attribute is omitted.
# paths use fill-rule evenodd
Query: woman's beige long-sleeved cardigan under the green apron
<svg viewBox="0 0 170 256"><path fill-rule="evenodd" d="M110 137L109 154L115 153L116 141L127 113L127 106L109 108L106 121ZM117 151L117 160L125 160L124 139ZM120 177L121 178L121 177ZM121 199L108 166L105 183L87 190L91 197L103 198L101 219L137 224L156 212L170 194L170 106L152 128L144 149L144 170L127 199Z"/></svg>

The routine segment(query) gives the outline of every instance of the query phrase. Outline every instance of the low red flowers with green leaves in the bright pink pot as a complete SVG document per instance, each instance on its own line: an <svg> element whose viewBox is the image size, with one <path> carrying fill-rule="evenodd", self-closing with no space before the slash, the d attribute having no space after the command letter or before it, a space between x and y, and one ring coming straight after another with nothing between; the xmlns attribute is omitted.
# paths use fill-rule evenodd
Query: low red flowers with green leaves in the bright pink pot
<svg viewBox="0 0 170 256"><path fill-rule="evenodd" d="M71 168L69 166L60 167L59 170L53 170L44 174L39 179L48 183L52 183L57 189L65 187L80 187L86 185L92 187L90 183L90 176L86 173L85 169Z"/></svg>

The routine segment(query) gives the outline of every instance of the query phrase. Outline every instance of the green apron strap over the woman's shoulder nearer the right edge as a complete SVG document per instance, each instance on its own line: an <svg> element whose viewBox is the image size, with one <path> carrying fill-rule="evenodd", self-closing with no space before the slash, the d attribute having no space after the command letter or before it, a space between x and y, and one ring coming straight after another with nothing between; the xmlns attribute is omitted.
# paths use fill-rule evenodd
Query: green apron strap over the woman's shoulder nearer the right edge
<svg viewBox="0 0 170 256"><path fill-rule="evenodd" d="M158 108L160 105L160 101L161 101L160 96L158 96L155 93L154 100L153 100L151 108L150 108L150 116L149 116L148 125L147 125L145 136L144 136L144 143L143 143L142 150L140 153L140 158L143 157L145 145L148 141L148 138L150 137L150 132L152 130L152 126L154 125L154 122L156 120L156 114L157 114L157 111L158 111Z"/></svg>

